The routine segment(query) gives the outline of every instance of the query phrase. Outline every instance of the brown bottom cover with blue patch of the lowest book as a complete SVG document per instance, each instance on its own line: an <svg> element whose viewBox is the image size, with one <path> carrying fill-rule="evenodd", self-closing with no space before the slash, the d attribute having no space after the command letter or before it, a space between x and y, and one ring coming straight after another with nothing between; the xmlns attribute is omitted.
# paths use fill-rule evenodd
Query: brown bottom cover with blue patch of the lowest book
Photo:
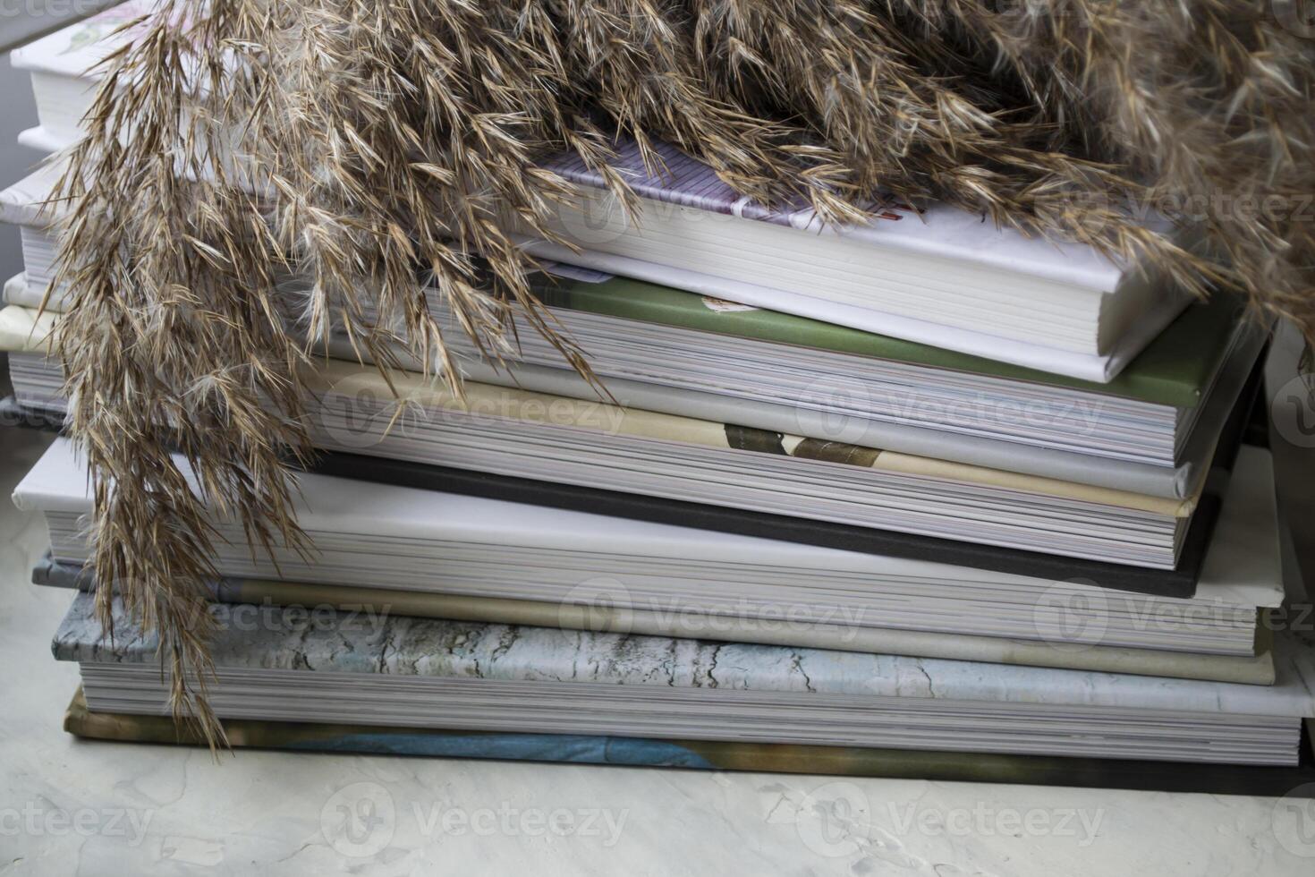
<svg viewBox="0 0 1315 877"><path fill-rule="evenodd" d="M1006 782L1144 792L1315 797L1310 731L1295 767L1178 764L1126 759L1045 757L930 749L656 740L571 734L498 734L370 724L226 719L234 748L433 759L494 759L630 768L751 770L847 777ZM87 740L205 746L193 728L163 715L93 713L79 689L64 731Z"/></svg>

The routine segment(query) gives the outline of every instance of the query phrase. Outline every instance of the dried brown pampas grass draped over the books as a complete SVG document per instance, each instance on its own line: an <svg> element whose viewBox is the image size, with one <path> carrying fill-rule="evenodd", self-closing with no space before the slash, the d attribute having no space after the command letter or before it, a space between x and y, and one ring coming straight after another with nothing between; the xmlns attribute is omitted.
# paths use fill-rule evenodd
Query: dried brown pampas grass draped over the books
<svg viewBox="0 0 1315 877"><path fill-rule="evenodd" d="M1315 42L1274 11L164 0L109 59L62 183L58 348L95 483L96 575L159 631L176 713L218 742L204 501L252 544L309 550L287 468L310 452L308 339L335 325L385 364L400 341L455 380L419 279L489 355L514 342L515 310L586 371L498 218L539 229L571 196L534 164L563 149L627 197L608 171L618 130L765 202L857 221L877 193L944 200L1147 259L1201 293L1241 289L1312 337ZM1145 231L1145 209L1201 225L1206 256ZM308 291L289 304L276 288L292 266Z"/></svg>

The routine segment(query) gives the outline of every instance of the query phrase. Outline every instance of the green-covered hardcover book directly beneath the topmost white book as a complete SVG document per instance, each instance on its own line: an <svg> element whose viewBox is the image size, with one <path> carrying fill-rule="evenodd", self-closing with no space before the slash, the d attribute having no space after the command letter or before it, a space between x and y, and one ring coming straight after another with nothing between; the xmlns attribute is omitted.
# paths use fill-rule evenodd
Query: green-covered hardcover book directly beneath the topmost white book
<svg viewBox="0 0 1315 877"><path fill-rule="evenodd" d="M501 367L447 320L468 377L1157 496L1195 488L1268 338L1240 302L1219 296L1189 308L1145 351L1145 368L1139 358L1120 376L1132 380L1102 392L999 377L985 360L960 363L985 371L961 371L838 352L813 344L834 333L873 339L872 348L890 339L621 277L542 289L602 388L529 325L518 325L518 350ZM437 297L431 308L447 318ZM818 326L817 338L794 323ZM794 335L798 343L782 341Z"/></svg>

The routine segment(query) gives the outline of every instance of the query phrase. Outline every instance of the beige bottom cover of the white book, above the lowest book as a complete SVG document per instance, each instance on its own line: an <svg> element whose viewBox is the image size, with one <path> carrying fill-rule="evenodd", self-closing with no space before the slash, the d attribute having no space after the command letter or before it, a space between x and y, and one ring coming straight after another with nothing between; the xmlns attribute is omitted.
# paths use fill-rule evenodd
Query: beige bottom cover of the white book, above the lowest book
<svg viewBox="0 0 1315 877"><path fill-rule="evenodd" d="M380 573L376 579L385 579L385 573ZM49 555L33 567L32 581L37 585L79 590L95 590L97 586L95 577L83 565L53 560ZM526 600L522 597L485 597L437 590L398 590L385 586L363 588L235 577L224 577L210 582L210 597L216 602L225 604L280 606L287 611L305 613L306 618L312 613L323 610L347 613L356 618L393 614L564 630L601 630L648 636L686 639L715 636L734 643L943 657L989 664L1056 667L1245 685L1274 684L1274 659L1270 653L1268 627L1256 631L1256 642L1252 647L1255 653L1237 655L1105 646L1094 642L1095 638L1090 635L1094 627L1085 630L1078 638L1047 634L1051 638L1043 640L961 632L947 636L931 630L867 627L851 623L844 617L834 623L807 621L800 615L797 607L769 606L767 611L755 615L746 611L748 606L743 601L729 602L725 606L731 614L711 614L702 611L692 602L680 605L669 598L656 601L652 597L647 598L651 607L644 607L644 601L638 600L622 580L600 582L594 579L586 581L585 588L558 602L548 600L550 594L546 593L535 593L534 598ZM1047 598L1053 600L1055 597L1047 596ZM1105 596L1101 598L1105 600ZM1040 611L1036 614L1053 614L1055 621L1070 617L1063 618L1063 621L1076 622L1080 613L1070 611L1070 609L1078 606L1086 607L1081 598L1076 598L1072 606L1063 602L1053 606L1038 604ZM1223 605L1206 607L1198 604L1193 611L1199 609L1205 609L1207 617L1227 614ZM1091 617L1098 617L1098 611L1091 613ZM1157 619L1155 625L1170 626L1164 619ZM1219 643L1211 643L1211 647L1220 644L1227 646L1227 642L1220 639Z"/></svg>

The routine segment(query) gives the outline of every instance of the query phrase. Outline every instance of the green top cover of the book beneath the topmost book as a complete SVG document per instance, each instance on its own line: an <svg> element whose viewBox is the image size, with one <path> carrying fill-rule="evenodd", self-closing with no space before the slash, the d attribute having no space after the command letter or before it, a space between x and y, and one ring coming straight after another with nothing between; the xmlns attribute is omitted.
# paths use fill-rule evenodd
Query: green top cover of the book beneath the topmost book
<svg viewBox="0 0 1315 877"><path fill-rule="evenodd" d="M1228 351L1236 322L1243 318L1243 304L1233 296L1215 295L1207 302L1194 304L1119 376L1109 384L1098 384L806 317L750 309L629 277L611 277L601 283L552 277L538 292L544 304L554 308L857 354L928 368L1070 387L1173 408L1193 408L1201 401L1219 362Z"/></svg>

